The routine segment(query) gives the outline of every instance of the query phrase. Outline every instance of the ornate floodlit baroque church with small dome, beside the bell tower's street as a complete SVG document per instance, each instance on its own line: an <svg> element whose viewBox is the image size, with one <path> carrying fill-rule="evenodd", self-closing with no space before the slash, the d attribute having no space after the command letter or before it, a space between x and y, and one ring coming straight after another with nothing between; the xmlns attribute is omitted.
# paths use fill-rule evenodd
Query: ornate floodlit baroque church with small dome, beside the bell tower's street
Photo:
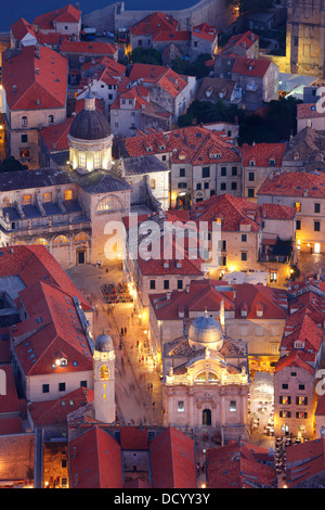
<svg viewBox="0 0 325 510"><path fill-rule="evenodd" d="M193 320L185 336L165 345L165 425L216 433L221 441L247 437L247 345L224 334L220 322Z"/></svg>

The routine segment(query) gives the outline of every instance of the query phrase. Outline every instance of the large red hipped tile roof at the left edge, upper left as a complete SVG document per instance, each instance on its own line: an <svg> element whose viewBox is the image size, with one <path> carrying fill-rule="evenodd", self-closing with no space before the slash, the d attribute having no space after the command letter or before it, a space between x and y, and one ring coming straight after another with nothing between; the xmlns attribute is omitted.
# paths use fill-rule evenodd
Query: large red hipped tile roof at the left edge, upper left
<svg viewBox="0 0 325 510"><path fill-rule="evenodd" d="M50 48L24 47L2 59L2 85L10 110L62 109L66 105L67 60Z"/></svg>

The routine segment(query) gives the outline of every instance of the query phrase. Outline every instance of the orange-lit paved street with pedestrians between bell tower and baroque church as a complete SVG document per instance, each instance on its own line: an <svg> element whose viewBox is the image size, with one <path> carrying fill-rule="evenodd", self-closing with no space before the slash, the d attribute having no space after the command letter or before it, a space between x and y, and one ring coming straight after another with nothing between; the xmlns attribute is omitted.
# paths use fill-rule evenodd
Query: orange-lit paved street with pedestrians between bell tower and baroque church
<svg viewBox="0 0 325 510"><path fill-rule="evenodd" d="M161 382L147 348L147 334L133 315L132 303L117 303L114 309L102 296L104 283L122 280L118 267L99 269L79 266L69 272L77 286L96 307L94 337L105 332L114 341L117 415L121 424L162 425ZM126 333L121 334L121 328Z"/></svg>

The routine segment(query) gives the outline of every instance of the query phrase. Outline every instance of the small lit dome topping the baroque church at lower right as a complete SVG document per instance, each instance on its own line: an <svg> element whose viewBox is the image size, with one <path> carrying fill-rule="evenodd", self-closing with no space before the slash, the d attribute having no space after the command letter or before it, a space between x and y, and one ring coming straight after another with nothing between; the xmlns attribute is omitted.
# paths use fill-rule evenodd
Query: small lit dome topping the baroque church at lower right
<svg viewBox="0 0 325 510"><path fill-rule="evenodd" d="M219 350L223 345L222 326L206 311L190 326L188 343L194 350L204 347Z"/></svg>

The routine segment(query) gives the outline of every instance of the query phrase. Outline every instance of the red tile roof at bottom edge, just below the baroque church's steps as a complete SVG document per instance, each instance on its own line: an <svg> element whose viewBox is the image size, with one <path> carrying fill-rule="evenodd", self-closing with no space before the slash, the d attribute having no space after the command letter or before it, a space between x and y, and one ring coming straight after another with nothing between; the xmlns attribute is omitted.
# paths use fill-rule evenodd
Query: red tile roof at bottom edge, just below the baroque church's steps
<svg viewBox="0 0 325 510"><path fill-rule="evenodd" d="M275 470L259 461L268 450L250 443L230 442L207 452L208 488L272 488ZM269 458L272 462L272 457Z"/></svg>

